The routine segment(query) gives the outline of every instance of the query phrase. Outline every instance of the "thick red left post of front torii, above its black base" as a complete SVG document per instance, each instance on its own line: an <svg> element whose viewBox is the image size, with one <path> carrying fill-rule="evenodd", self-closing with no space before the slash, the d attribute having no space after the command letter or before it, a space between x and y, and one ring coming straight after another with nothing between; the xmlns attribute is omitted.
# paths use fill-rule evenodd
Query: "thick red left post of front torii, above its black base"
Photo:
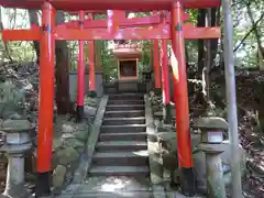
<svg viewBox="0 0 264 198"><path fill-rule="evenodd" d="M55 25L55 10L51 3L46 2L43 4L42 23L51 28ZM48 31L43 31L40 38L40 107L36 170L38 173L47 173L52 170L55 40Z"/></svg>

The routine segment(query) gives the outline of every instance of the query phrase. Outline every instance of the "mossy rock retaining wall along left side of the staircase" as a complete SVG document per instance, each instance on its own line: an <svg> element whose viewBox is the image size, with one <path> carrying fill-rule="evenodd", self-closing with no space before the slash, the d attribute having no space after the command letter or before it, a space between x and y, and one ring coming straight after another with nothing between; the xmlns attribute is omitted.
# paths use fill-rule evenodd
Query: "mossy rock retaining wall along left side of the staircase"
<svg viewBox="0 0 264 198"><path fill-rule="evenodd" d="M90 127L95 120L99 98L86 98L85 122L76 123L75 118L57 116L53 140L53 188L59 194L74 178L81 156L86 152L86 143L90 135Z"/></svg>

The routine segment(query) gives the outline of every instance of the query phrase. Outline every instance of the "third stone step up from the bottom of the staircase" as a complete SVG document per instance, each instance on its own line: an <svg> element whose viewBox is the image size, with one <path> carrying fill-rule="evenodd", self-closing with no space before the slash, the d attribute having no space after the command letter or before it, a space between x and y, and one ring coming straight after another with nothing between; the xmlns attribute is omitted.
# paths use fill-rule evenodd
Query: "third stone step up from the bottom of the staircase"
<svg viewBox="0 0 264 198"><path fill-rule="evenodd" d="M142 141L109 141L109 142L98 142L96 145L98 152L109 152L109 151L143 151L147 150L146 142Z"/></svg>

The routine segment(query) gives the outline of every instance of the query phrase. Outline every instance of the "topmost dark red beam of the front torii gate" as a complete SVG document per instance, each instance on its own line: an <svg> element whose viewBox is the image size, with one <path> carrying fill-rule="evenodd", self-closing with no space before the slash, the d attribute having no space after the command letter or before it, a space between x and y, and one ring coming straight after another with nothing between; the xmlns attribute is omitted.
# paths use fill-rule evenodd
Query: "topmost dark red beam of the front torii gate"
<svg viewBox="0 0 264 198"><path fill-rule="evenodd" d="M79 10L130 10L151 11L169 10L175 0L0 0L0 6L21 9L41 9L50 1L55 9L64 11ZM220 7L220 0L182 0L186 9Z"/></svg>

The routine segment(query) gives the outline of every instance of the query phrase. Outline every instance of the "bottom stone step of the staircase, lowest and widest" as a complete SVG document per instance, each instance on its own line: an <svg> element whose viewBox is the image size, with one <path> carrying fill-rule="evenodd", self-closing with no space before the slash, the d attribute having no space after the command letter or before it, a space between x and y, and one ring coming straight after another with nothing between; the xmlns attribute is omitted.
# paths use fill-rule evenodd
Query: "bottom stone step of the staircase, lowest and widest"
<svg viewBox="0 0 264 198"><path fill-rule="evenodd" d="M90 169L89 176L150 176L148 166L95 166Z"/></svg>

